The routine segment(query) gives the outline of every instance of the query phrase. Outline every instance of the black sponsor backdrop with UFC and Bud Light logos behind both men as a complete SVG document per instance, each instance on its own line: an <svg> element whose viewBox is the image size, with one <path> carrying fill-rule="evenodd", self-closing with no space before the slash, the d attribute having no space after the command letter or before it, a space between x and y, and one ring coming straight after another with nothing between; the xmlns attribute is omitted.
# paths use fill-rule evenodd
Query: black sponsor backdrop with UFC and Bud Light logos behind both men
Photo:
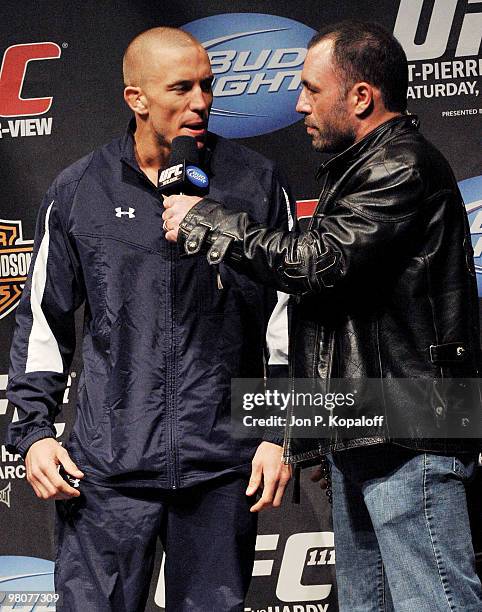
<svg viewBox="0 0 482 612"><path fill-rule="evenodd" d="M306 45L321 26L360 17L361 7L364 19L393 31L405 48L409 110L419 116L422 132L448 158L459 181L482 297L482 4L477 0L3 1L0 610L55 610L53 597L12 602L1 595L52 592L54 559L53 503L35 498L22 460L3 445L6 428L16 418L5 399L8 350L44 192L60 170L120 135L130 118L122 98L126 45L139 32L159 25L182 27L199 38L215 75L211 130L279 163L290 179L303 224L316 204L315 171L323 161L312 151L294 110ZM61 442L73 422L81 369L77 354L57 423ZM480 491L479 474L470 491L479 555ZM301 503L291 504L290 497L289 490L281 509L261 515L245 610L336 612L331 506L319 486L310 482L309 470L302 474ZM159 547L149 612L164 609L163 559Z"/></svg>

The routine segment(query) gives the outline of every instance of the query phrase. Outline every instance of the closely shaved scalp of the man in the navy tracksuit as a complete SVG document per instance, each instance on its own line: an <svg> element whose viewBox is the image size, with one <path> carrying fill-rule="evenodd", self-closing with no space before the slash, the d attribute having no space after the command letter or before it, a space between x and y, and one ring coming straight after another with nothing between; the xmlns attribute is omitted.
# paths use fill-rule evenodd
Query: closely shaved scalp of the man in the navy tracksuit
<svg viewBox="0 0 482 612"><path fill-rule="evenodd" d="M127 47L122 61L124 85L139 87L149 77L163 49L201 47L188 32L178 28L151 28L138 34Z"/></svg>

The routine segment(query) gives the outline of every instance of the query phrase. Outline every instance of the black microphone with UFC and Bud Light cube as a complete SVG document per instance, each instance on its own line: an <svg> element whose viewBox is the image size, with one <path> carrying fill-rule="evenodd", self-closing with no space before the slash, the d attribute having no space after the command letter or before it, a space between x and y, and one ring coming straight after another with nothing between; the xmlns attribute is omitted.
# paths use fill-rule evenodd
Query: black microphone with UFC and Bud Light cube
<svg viewBox="0 0 482 612"><path fill-rule="evenodd" d="M205 195L209 178L199 166L196 140L192 136L176 136L172 141L169 164L164 170L159 170L159 192L163 195Z"/></svg>

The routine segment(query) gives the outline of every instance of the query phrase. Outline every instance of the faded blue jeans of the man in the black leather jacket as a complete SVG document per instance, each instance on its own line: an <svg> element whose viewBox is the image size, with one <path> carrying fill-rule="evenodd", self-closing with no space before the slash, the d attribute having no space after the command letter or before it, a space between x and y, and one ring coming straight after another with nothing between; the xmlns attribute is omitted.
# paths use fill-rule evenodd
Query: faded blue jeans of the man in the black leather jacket
<svg viewBox="0 0 482 612"><path fill-rule="evenodd" d="M377 445L329 457L340 612L481 612L474 457Z"/></svg>

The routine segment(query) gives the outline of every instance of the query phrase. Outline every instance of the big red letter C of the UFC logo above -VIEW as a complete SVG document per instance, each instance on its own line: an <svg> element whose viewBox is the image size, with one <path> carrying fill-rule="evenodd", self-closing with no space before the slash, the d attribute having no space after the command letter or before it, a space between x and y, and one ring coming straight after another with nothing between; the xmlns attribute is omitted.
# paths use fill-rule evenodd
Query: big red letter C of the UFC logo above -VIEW
<svg viewBox="0 0 482 612"><path fill-rule="evenodd" d="M58 59L60 53L60 47L52 42L8 47L0 68L0 117L42 115L49 110L52 97L22 98L22 88L29 62Z"/></svg>

